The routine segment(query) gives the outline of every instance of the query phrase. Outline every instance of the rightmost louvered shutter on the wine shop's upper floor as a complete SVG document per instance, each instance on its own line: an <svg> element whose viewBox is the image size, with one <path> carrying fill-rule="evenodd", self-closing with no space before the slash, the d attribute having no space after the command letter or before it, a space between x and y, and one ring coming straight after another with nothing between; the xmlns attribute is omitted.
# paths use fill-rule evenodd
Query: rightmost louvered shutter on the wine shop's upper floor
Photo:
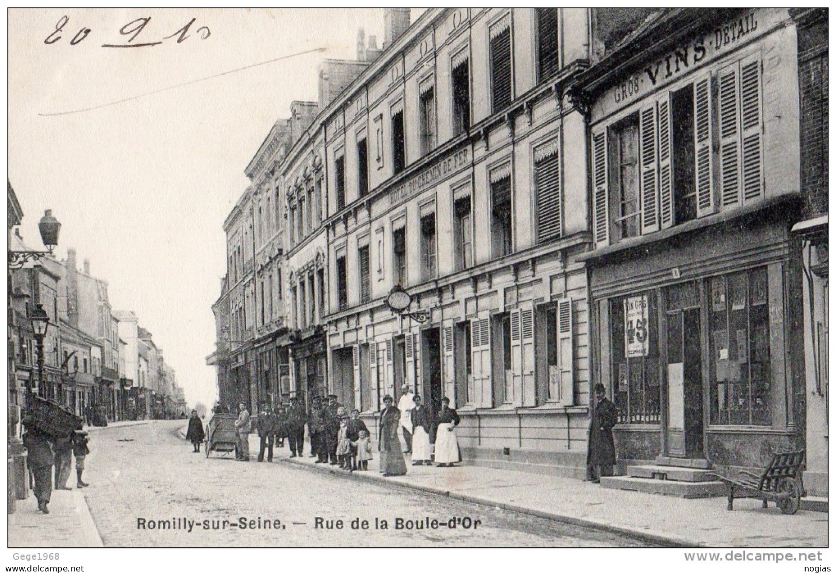
<svg viewBox="0 0 836 573"><path fill-rule="evenodd" d="M760 53L740 63L743 202L762 196L762 89Z"/></svg>

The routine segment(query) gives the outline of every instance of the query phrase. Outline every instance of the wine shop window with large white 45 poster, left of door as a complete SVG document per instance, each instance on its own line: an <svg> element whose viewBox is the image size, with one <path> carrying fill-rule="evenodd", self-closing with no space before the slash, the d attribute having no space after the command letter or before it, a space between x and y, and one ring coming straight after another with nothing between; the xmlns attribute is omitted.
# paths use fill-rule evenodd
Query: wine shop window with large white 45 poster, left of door
<svg viewBox="0 0 836 573"><path fill-rule="evenodd" d="M618 423L660 422L659 352L653 293L617 298L609 305L611 380Z"/></svg>

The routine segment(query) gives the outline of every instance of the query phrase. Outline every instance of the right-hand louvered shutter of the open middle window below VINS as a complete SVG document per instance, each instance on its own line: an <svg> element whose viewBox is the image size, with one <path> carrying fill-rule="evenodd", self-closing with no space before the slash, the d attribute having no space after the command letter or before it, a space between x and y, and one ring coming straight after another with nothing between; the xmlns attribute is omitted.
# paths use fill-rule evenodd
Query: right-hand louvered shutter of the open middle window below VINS
<svg viewBox="0 0 836 573"><path fill-rule="evenodd" d="M711 74L694 83L694 160L696 216L714 212L714 177L711 172Z"/></svg>

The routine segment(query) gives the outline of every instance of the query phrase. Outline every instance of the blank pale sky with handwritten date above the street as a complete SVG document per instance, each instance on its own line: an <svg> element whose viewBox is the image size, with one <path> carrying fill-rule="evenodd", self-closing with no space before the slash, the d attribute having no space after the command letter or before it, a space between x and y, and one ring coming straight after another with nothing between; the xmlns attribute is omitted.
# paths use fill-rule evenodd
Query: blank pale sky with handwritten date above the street
<svg viewBox="0 0 836 573"><path fill-rule="evenodd" d="M44 39L67 15L58 42ZM134 43L120 28L150 17ZM413 14L415 18L415 14ZM196 28L207 26L201 40ZM90 28L77 45L69 41ZM225 272L222 230L247 187L243 171L294 99L315 100L322 58L354 58L357 28L383 43L383 10L9 10L8 178L23 206L21 232L40 246L51 208L62 223L56 255L109 283L115 309L132 310L163 348L186 399L212 405L212 302ZM76 114L291 53L327 48L161 94Z"/></svg>

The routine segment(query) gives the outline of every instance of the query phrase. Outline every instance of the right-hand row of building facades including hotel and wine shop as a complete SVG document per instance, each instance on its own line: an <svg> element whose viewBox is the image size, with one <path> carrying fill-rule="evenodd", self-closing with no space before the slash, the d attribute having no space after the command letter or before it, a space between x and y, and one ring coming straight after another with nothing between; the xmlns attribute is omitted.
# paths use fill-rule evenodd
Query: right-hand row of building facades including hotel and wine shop
<svg viewBox="0 0 836 573"><path fill-rule="evenodd" d="M219 399L451 398L466 458L827 488L827 19L786 9L385 10L246 167ZM386 304L393 288L410 313Z"/></svg>

